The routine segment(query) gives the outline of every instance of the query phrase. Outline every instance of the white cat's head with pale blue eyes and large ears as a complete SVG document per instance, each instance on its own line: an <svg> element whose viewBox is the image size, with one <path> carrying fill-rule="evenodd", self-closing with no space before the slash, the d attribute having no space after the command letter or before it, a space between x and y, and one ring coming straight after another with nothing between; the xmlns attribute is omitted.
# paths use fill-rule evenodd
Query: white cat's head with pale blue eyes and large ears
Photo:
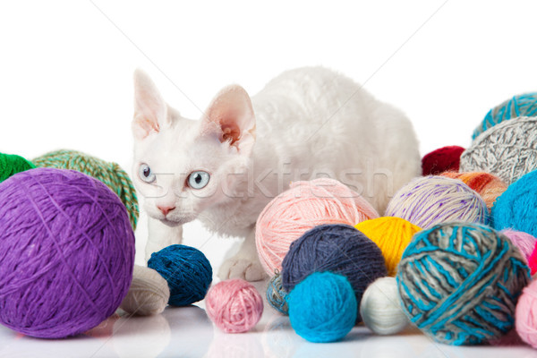
<svg viewBox="0 0 537 358"><path fill-rule="evenodd" d="M150 217L169 226L236 200L255 142L251 100L240 86L221 90L200 120L169 107L145 72L134 72L133 182Z"/></svg>

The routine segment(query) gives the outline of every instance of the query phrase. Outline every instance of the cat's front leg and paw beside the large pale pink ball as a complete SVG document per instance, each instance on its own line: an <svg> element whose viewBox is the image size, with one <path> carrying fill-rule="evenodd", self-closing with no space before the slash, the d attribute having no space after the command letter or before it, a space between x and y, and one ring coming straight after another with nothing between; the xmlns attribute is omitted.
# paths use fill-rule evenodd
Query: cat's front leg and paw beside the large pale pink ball
<svg viewBox="0 0 537 358"><path fill-rule="evenodd" d="M244 239L241 249L234 257L224 261L218 270L220 279L243 278L247 281L260 281L267 277L261 266L255 246L255 226Z"/></svg>

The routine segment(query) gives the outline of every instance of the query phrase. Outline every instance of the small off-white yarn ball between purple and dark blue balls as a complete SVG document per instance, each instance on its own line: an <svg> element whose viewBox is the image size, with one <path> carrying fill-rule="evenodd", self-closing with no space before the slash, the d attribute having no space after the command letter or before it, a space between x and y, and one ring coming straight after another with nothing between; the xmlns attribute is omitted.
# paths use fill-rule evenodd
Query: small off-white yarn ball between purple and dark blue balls
<svg viewBox="0 0 537 358"><path fill-rule="evenodd" d="M127 313L150 316L164 311L169 299L170 289L157 271L134 265L131 287L119 307Z"/></svg>

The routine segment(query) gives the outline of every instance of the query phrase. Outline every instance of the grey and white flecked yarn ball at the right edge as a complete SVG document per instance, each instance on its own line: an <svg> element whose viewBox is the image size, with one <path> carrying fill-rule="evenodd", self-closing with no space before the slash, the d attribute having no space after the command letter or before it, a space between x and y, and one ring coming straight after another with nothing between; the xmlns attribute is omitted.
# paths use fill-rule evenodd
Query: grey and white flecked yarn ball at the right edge
<svg viewBox="0 0 537 358"><path fill-rule="evenodd" d="M517 117L482 132L466 149L461 172L498 175L507 184L537 169L537 117Z"/></svg>

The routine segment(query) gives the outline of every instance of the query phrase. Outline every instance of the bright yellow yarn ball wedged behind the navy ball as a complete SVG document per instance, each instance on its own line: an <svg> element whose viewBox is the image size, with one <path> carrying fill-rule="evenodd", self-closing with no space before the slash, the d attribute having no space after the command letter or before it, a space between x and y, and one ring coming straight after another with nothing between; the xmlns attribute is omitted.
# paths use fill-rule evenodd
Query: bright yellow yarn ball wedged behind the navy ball
<svg viewBox="0 0 537 358"><path fill-rule="evenodd" d="M401 217L378 217L354 226L379 246L388 276L396 276L397 265L413 234L422 229Z"/></svg>

